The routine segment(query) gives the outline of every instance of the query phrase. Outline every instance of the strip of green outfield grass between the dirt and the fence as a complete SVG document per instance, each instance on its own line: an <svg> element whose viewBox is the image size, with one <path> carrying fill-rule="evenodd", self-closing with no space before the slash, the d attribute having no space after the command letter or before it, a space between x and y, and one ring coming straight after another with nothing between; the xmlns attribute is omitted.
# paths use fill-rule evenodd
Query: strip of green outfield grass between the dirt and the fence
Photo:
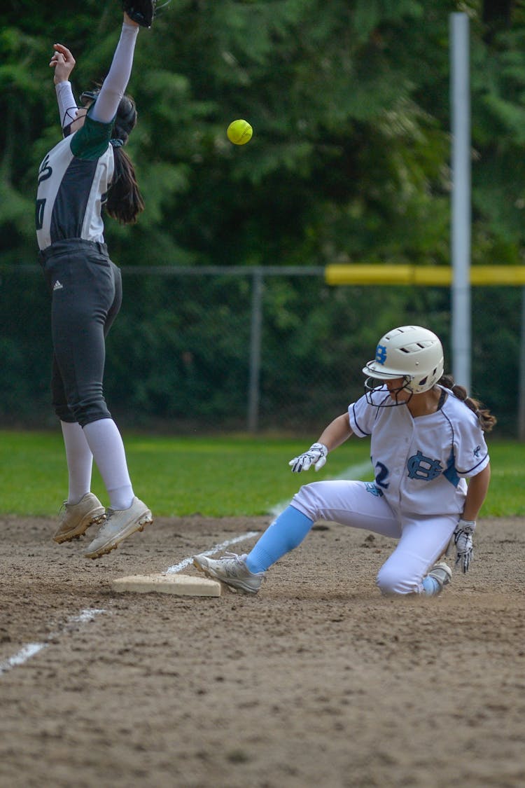
<svg viewBox="0 0 525 788"><path fill-rule="evenodd" d="M315 440L312 436L311 440ZM311 442L310 440L310 442ZM368 440L350 439L319 473L292 474L288 461L308 440L277 437L124 435L136 494L158 516L267 515L301 484L322 478L372 479ZM482 516L525 515L525 444L491 441L492 481ZM93 491L107 503L94 470ZM67 495L61 433L0 430L0 511L57 514Z"/></svg>

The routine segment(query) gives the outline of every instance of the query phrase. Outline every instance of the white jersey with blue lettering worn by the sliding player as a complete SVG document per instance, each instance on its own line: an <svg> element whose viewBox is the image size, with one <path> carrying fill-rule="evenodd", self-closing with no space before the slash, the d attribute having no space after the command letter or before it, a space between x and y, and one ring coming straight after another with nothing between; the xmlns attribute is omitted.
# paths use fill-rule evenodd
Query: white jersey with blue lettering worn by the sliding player
<svg viewBox="0 0 525 788"><path fill-rule="evenodd" d="M438 411L416 418L405 405L376 407L366 396L349 405L353 433L371 437L375 484L397 515L460 513L465 479L489 463L479 419L443 390L448 396Z"/></svg>

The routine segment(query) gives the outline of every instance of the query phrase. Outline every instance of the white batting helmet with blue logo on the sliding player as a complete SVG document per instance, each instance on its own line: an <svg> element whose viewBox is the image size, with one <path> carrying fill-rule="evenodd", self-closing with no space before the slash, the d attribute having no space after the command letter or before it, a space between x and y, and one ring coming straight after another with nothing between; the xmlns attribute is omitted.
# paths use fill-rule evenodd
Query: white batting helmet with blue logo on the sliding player
<svg viewBox="0 0 525 788"><path fill-rule="evenodd" d="M427 392L443 374L443 348L439 337L420 325L401 325L381 337L375 359L363 372L376 381L405 380L406 391ZM365 383L366 388L372 388Z"/></svg>

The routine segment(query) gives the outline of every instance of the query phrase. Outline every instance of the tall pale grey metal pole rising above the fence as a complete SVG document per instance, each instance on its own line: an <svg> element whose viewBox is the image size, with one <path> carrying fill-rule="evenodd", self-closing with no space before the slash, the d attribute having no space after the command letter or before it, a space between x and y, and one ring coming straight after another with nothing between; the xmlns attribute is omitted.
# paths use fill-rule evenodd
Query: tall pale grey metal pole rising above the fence
<svg viewBox="0 0 525 788"><path fill-rule="evenodd" d="M471 129L466 13L450 14L452 104L452 360L457 383L471 388Z"/></svg>

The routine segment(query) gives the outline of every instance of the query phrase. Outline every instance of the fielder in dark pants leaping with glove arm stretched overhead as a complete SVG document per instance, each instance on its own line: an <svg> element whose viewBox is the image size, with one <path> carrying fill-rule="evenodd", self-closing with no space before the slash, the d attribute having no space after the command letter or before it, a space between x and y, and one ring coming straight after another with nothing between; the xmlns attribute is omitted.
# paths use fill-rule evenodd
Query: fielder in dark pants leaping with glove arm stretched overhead
<svg viewBox="0 0 525 788"><path fill-rule="evenodd" d="M99 90L77 106L69 80L76 65L54 44L50 67L64 139L39 167L36 236L51 295L52 394L68 463L68 498L54 534L62 544L100 529L85 556L96 559L153 522L135 496L120 430L105 403L105 336L120 310L120 269L105 244L105 214L133 224L144 208L135 168L124 152L137 111L125 95L139 27L150 27L154 0L124 0L120 38ZM128 13L129 12L129 13ZM109 496L91 492L93 459Z"/></svg>

